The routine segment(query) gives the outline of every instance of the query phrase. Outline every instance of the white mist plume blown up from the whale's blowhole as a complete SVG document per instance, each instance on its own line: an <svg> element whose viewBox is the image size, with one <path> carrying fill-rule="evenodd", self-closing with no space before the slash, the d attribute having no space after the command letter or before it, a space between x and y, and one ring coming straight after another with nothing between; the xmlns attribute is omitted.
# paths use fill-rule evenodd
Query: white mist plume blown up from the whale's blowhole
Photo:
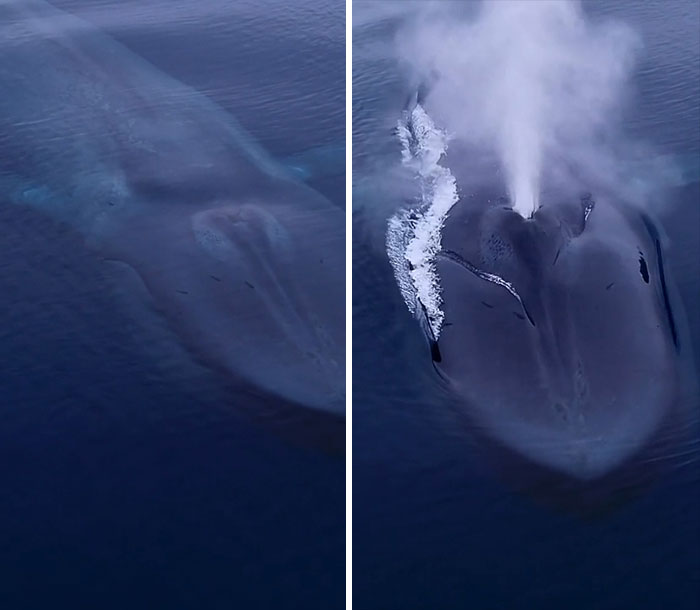
<svg viewBox="0 0 700 610"><path fill-rule="evenodd" d="M523 216L537 208L545 173L586 165L605 175L610 157L601 142L616 124L634 33L591 21L573 0L464 9L426 4L399 37L401 59L429 83L431 115L454 137L496 152Z"/></svg>

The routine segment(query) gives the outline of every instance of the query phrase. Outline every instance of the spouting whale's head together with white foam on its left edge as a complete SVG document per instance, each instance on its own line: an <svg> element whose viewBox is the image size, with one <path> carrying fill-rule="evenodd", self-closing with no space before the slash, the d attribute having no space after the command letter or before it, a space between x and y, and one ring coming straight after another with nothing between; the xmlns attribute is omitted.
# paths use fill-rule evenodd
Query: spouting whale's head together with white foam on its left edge
<svg viewBox="0 0 700 610"><path fill-rule="evenodd" d="M406 116L423 203L390 218L387 251L440 386L525 488L600 499L650 474L698 400L657 224L608 194L548 196L529 218L493 189L460 194L444 134L420 105Z"/></svg>

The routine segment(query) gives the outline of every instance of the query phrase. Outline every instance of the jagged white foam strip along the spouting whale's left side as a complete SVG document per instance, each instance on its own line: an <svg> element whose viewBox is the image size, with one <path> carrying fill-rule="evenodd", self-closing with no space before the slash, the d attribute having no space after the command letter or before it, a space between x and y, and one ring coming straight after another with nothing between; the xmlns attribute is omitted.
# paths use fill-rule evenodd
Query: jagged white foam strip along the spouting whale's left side
<svg viewBox="0 0 700 610"><path fill-rule="evenodd" d="M408 309L416 316L425 309L437 339L444 313L435 256L442 247L447 214L458 200L457 182L440 164L447 151L447 133L435 125L420 104L404 114L397 133L403 163L415 170L420 195L415 206L389 219L387 253Z"/></svg>

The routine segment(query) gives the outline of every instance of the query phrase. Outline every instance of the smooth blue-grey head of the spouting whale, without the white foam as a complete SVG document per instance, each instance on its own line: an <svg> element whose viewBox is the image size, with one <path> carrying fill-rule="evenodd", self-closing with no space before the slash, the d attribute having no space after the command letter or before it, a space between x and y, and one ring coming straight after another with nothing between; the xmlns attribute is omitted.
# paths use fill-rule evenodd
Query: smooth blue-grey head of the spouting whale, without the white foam
<svg viewBox="0 0 700 610"><path fill-rule="evenodd" d="M638 209L584 197L525 219L465 198L437 270L434 366L483 435L523 461L603 478L686 399L683 312L661 236Z"/></svg>

